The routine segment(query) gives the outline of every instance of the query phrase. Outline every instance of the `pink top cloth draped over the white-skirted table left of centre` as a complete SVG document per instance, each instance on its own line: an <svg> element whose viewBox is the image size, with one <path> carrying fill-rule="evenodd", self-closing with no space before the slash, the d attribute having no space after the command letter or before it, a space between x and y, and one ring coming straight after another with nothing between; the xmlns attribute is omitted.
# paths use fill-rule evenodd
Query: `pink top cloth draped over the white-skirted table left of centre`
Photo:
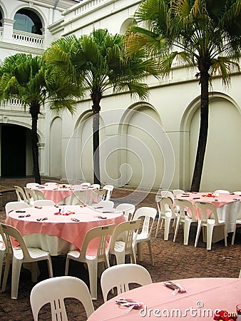
<svg viewBox="0 0 241 321"><path fill-rule="evenodd" d="M58 213L60 209L61 213L71 211L74 214L56 215L55 213ZM83 239L91 228L99 225L118 225L125 221L121 211L110 209L113 213L103 213L106 210L94 210L80 205L59 205L58 208L55 206L43 206L42 208L26 208L25 210L25 213L10 212L6 217L6 224L17 228L22 235L52 235L66 240L78 249L81 249ZM29 217L19 218L19 215L28 214L30 214ZM98 218L98 216L106 218ZM37 218L47 218L47 220L38 221ZM71 218L76 218L80 221L75 222ZM44 250L48 249L44 248ZM51 250L49 252L51 253ZM56 255L59 253L51 254Z"/></svg>

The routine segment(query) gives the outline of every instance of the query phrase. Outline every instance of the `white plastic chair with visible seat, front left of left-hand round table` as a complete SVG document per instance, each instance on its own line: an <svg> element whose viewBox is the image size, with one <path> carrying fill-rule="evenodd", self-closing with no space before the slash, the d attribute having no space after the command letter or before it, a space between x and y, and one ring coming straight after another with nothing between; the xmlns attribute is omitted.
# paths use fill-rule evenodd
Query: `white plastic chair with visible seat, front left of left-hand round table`
<svg viewBox="0 0 241 321"><path fill-rule="evenodd" d="M9 267L10 267L10 264L12 263L11 298L17 299L18 290L19 290L19 276L20 276L22 263L36 263L37 261L47 260L49 277L53 277L51 256L48 252L43 251L39 248L27 248L24 242L24 239L19 233L19 230L17 230L13 226L1 223L1 227L6 237L6 248L8 251L6 255L6 265L5 265L4 279L3 279L3 285L1 290L3 292L6 290L6 281L9 275ZM15 238L19 243L19 246L17 248L14 248L11 245L10 237ZM37 271L38 270L36 267L31 270L33 282L37 282Z"/></svg>

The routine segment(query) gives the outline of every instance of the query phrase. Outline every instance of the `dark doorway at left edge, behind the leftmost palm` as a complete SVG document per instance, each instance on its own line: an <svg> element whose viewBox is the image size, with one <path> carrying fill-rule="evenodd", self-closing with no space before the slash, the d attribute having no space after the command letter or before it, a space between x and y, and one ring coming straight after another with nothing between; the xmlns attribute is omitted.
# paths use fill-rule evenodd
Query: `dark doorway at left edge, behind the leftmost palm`
<svg viewBox="0 0 241 321"><path fill-rule="evenodd" d="M26 175L26 128L1 125L1 177Z"/></svg>

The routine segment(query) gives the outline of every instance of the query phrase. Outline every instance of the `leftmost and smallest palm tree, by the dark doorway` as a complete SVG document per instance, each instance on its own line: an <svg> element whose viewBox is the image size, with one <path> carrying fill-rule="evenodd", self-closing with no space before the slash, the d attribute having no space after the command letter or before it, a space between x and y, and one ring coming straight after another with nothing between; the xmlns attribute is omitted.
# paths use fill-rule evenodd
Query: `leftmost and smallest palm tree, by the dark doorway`
<svg viewBox="0 0 241 321"><path fill-rule="evenodd" d="M41 56L15 54L6 57L0 66L0 103L10 98L18 98L31 114L32 153L36 183L41 183L39 173L39 151L37 123L41 107L49 104L52 111L58 113L67 108L73 113L75 97L81 96L81 88L66 75L58 74L58 69L49 68Z"/></svg>

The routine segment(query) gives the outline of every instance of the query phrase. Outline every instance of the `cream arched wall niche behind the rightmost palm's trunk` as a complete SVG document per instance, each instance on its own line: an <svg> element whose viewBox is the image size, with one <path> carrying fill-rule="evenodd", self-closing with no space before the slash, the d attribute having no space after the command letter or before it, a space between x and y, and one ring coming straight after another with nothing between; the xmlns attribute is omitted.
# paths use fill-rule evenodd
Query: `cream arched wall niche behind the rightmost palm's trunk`
<svg viewBox="0 0 241 321"><path fill-rule="evenodd" d="M209 129L202 170L201 191L219 188L237 190L240 182L241 136L240 107L229 96L210 93ZM180 126L180 182L188 190L193 178L200 127L200 97L196 98L183 115Z"/></svg>

